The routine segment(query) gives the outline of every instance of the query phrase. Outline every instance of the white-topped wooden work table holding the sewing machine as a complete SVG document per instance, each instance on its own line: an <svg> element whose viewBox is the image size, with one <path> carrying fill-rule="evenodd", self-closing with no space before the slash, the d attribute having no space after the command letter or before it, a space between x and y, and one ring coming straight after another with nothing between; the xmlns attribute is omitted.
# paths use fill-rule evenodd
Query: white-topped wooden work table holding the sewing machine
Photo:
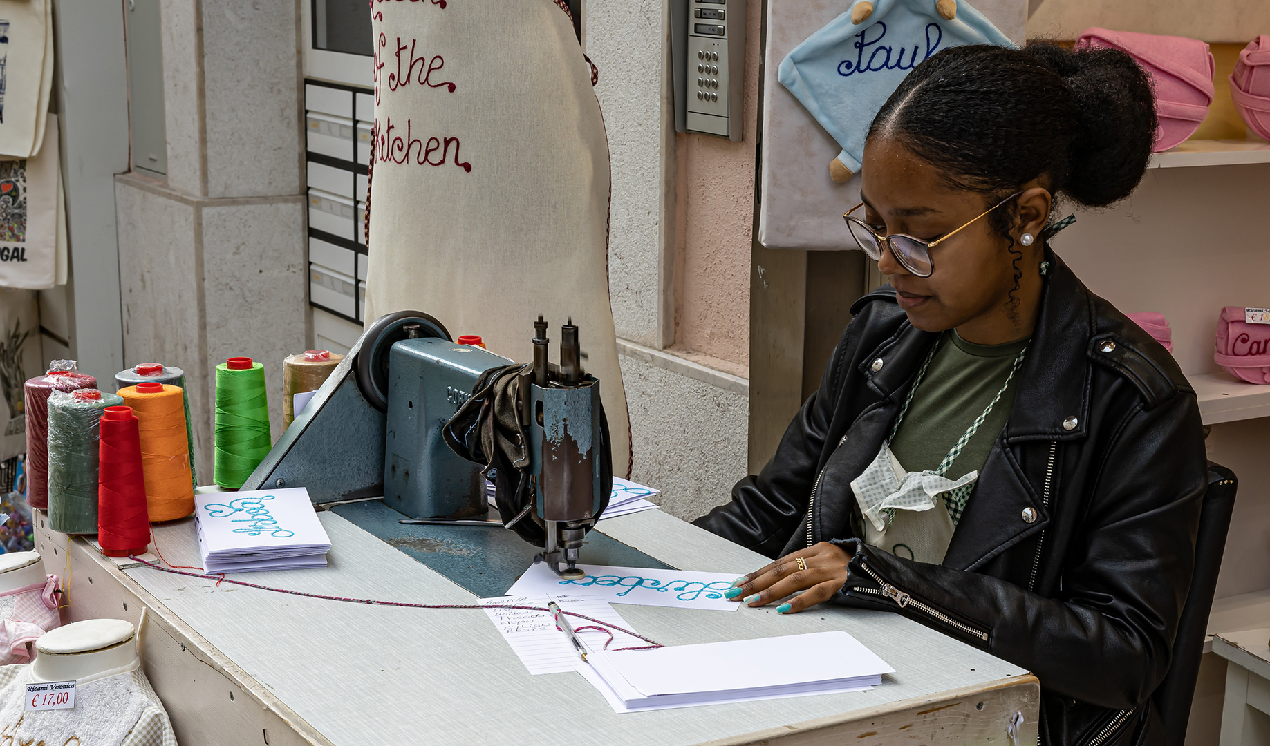
<svg viewBox="0 0 1270 746"><path fill-rule="evenodd" d="M319 518L331 539L326 568L236 577L333 596L475 600L349 520L330 511ZM634 629L665 645L843 629L897 672L871 691L618 716L575 674L528 675L483 612L217 586L112 561L46 524L38 515L37 549L51 572L66 572L67 620L136 623L146 609L142 662L183 746L1008 743L1016 713L1020 742L1035 742L1035 676L897 614L621 605ZM608 519L599 530L681 568L739 575L766 562L660 510ZM198 565L193 519L155 527L155 542L169 563Z"/></svg>

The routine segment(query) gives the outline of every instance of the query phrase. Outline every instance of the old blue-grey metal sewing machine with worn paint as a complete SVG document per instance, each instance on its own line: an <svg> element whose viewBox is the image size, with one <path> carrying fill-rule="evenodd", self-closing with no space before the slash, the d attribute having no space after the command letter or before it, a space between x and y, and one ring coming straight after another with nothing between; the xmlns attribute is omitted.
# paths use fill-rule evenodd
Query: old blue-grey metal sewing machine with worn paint
<svg viewBox="0 0 1270 746"><path fill-rule="evenodd" d="M533 492L521 515L502 520L536 521L546 534L538 558L561 577L580 577L583 537L607 504L599 382L582 369L577 326L561 329L559 365L547 359L547 324L540 317L533 326L533 365L521 373L518 407L530 439L523 471ZM384 316L243 490L307 487L314 502L324 504L382 495L403 523L480 524L472 519L489 511L483 468L452 452L441 429L483 372L508 364L479 346L455 344L427 313Z"/></svg>

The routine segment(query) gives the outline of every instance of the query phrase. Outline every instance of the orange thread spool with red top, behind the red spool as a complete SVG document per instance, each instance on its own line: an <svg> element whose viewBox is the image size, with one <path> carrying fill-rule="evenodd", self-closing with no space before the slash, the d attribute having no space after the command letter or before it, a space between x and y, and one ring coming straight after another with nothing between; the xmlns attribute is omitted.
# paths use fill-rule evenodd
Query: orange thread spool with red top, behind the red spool
<svg viewBox="0 0 1270 746"><path fill-rule="evenodd" d="M119 389L137 417L141 468L146 483L150 520L177 520L194 511L194 486L189 478L184 391L157 381Z"/></svg>

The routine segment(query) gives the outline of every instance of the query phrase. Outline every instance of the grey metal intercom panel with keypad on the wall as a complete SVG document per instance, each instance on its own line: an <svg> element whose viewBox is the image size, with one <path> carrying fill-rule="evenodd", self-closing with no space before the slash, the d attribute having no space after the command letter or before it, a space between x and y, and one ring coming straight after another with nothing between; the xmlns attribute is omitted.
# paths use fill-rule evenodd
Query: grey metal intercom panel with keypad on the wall
<svg viewBox="0 0 1270 746"><path fill-rule="evenodd" d="M739 141L745 0L672 3L676 129Z"/></svg>

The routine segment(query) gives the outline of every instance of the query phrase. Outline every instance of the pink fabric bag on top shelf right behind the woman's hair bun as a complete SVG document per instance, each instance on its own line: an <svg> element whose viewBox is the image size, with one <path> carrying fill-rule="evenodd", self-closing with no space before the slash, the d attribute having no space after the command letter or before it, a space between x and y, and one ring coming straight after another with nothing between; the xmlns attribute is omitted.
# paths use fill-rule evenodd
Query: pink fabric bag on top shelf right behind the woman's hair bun
<svg viewBox="0 0 1270 746"><path fill-rule="evenodd" d="M1176 147L1195 134L1208 117L1208 105L1217 93L1213 88L1217 62L1204 42L1093 27L1085 29L1076 41L1077 49L1091 47L1128 52L1151 74L1156 115L1160 117L1160 131L1152 146L1154 152Z"/></svg>

